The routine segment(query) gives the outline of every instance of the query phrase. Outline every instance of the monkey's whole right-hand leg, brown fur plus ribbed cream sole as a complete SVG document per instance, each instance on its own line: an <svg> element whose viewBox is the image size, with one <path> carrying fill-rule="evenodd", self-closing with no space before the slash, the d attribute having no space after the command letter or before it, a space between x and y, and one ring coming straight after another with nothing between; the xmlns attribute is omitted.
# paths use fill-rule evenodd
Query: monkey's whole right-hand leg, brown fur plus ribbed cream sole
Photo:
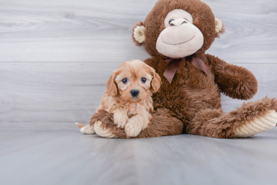
<svg viewBox="0 0 277 185"><path fill-rule="evenodd" d="M276 100L267 97L244 103L229 113L218 109L205 109L195 113L187 132L215 138L249 137L276 126L276 110Z"/></svg>

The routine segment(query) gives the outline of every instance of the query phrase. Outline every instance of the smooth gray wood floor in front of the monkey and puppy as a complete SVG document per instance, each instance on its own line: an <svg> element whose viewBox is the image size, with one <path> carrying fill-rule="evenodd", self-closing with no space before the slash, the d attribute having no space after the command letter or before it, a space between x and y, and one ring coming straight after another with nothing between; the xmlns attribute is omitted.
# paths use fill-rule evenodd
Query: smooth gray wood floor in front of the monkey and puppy
<svg viewBox="0 0 277 185"><path fill-rule="evenodd" d="M277 128L245 139L0 131L1 184L276 184Z"/></svg>

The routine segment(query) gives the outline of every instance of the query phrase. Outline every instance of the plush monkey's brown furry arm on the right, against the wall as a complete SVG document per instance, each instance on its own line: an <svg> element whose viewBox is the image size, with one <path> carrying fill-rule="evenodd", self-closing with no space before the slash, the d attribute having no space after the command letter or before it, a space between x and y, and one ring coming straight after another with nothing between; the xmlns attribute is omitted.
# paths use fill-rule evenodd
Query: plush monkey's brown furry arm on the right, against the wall
<svg viewBox="0 0 277 185"><path fill-rule="evenodd" d="M249 100L257 92L258 82L248 69L205 54L222 93L233 99Z"/></svg>

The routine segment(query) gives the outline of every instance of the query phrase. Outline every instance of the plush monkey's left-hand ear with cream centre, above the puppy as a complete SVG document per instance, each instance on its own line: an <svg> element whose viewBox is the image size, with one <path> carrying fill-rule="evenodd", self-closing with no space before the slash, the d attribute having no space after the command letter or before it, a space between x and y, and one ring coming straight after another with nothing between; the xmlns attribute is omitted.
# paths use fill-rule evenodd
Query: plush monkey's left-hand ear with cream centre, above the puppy
<svg viewBox="0 0 277 185"><path fill-rule="evenodd" d="M132 39L136 46L142 46L145 43L145 27L143 22L135 23L132 26Z"/></svg>

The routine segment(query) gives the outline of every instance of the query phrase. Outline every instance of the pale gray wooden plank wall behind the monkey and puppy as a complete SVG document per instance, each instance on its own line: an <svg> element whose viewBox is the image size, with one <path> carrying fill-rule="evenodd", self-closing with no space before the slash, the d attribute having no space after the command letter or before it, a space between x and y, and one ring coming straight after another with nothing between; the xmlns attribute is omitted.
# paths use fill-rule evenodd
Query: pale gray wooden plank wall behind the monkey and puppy
<svg viewBox="0 0 277 185"><path fill-rule="evenodd" d="M149 57L131 40L156 0L0 0L0 128L77 129L124 61ZM204 0L226 33L207 51L257 77L253 100L277 97L277 1ZM225 111L243 101L222 96Z"/></svg>

